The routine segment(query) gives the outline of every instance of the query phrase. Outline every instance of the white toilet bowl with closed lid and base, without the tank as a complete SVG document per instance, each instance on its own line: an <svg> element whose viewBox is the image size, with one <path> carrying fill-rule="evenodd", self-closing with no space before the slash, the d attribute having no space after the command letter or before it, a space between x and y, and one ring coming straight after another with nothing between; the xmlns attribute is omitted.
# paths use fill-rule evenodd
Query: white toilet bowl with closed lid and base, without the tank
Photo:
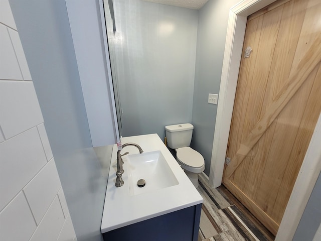
<svg viewBox="0 0 321 241"><path fill-rule="evenodd" d="M199 186L198 174L205 169L203 156L190 147L176 149L176 160L195 187Z"/></svg>

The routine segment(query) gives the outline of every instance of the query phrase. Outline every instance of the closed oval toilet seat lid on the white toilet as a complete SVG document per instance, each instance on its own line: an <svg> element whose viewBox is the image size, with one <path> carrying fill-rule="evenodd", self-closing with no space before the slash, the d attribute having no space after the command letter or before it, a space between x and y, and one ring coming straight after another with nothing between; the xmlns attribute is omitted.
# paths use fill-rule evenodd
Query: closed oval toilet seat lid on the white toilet
<svg viewBox="0 0 321 241"><path fill-rule="evenodd" d="M176 157L183 165L192 169L203 169L202 171L204 171L205 162L203 156L192 148L182 147L177 149Z"/></svg>

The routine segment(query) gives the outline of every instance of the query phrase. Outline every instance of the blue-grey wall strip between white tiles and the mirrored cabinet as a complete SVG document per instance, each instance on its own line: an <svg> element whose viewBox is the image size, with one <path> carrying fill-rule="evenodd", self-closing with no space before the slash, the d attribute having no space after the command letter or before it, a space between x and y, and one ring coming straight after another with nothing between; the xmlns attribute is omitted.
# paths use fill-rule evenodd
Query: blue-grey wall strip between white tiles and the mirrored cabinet
<svg viewBox="0 0 321 241"><path fill-rule="evenodd" d="M99 162L92 148L66 3L10 0L10 4L78 241L102 240L110 160ZM97 18L97 12L84 17Z"/></svg>

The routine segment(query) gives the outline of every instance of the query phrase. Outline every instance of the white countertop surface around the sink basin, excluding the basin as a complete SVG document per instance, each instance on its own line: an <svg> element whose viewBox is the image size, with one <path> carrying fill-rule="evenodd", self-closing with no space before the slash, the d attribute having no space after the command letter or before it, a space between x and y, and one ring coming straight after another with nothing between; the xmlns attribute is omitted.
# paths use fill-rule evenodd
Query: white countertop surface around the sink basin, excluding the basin
<svg viewBox="0 0 321 241"><path fill-rule="evenodd" d="M115 187L117 145L114 145L101 222L102 233L203 203L202 196L157 134L125 137L121 139L121 142L122 144L128 142L136 143L144 153L156 150L161 151L179 184L132 196L129 193L128 172L126 172L127 160L126 156L123 156L123 169L125 172L122 178L124 185L118 188ZM138 149L133 146L125 147L121 153L125 152L129 152L129 154L139 153Z"/></svg>

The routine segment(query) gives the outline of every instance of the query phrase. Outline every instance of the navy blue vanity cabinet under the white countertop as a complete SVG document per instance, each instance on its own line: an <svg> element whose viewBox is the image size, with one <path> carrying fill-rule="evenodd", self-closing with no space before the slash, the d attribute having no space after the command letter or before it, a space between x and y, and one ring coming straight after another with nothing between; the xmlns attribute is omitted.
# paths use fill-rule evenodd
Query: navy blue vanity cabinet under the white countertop
<svg viewBox="0 0 321 241"><path fill-rule="evenodd" d="M104 241L197 241L202 204L103 233ZM112 217L110 217L112 218Z"/></svg>

